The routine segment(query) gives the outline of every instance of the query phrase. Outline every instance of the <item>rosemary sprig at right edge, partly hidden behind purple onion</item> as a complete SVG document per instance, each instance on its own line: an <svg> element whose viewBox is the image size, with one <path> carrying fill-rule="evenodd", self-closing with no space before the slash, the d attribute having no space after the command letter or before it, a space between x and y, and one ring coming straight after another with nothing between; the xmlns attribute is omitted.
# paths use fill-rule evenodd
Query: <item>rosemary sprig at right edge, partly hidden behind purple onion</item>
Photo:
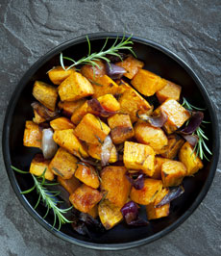
<svg viewBox="0 0 221 256"><path fill-rule="evenodd" d="M188 111L194 111L194 110L205 111L205 109L201 109L201 108L193 106L184 97L183 97L182 106ZM209 122L202 121L202 123L209 123ZM209 158L207 157L205 151L207 151L209 153L209 155L212 155L212 153L206 144L206 141L209 141L209 139L205 135L202 124L196 129L196 131L193 133L193 135L197 135L197 137L198 137L198 142L196 143L196 145L193 148L193 152L196 152L196 157L199 156L201 160L203 160L205 158L209 161Z"/></svg>

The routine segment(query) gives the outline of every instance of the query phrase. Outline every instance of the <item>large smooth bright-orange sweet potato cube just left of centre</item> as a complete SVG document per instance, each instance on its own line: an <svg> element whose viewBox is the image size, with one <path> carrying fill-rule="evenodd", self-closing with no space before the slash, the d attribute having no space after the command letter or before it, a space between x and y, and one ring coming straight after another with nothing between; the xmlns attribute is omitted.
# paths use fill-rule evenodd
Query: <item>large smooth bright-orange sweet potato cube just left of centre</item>
<svg viewBox="0 0 221 256"><path fill-rule="evenodd" d="M91 144L101 144L110 133L110 128L95 115L86 114L74 132L82 141Z"/></svg>

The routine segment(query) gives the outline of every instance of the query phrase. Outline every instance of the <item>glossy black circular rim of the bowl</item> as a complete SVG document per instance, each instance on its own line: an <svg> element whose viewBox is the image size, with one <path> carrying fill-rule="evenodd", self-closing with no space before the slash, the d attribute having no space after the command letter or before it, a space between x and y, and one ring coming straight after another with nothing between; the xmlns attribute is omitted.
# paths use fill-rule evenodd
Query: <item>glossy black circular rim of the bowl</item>
<svg viewBox="0 0 221 256"><path fill-rule="evenodd" d="M87 35L90 40L93 39L103 39L103 38L122 38L125 34L123 33L95 33L95 34L89 34ZM130 37L129 35L125 35L126 38ZM30 205L29 201L25 198L24 195L22 195L20 192L20 188L16 182L14 173L11 168L11 156L10 156L10 147L9 147L9 140L10 140L10 126L12 123L12 113L15 108L17 99L20 95L21 90L26 86L28 80L30 79L31 76L34 75L34 73L37 71L38 67L41 66L42 64L45 64L47 61L49 61L53 56L56 54L60 53L62 50L74 45L78 44L81 42L86 41L86 36L82 36L79 38L74 38L68 41L65 41L61 43L59 46L56 46L53 48L51 51L47 52L45 55L43 55L41 58L38 59L38 61L33 64L28 71L24 74L20 82L18 83L17 87L12 93L12 98L10 100L6 115L5 115L5 120L4 120L4 127L3 127L3 136L2 136L2 145L3 145L3 156L4 156L4 162L5 166L7 169L7 173L10 179L10 182L12 184L12 189L15 192L16 196L24 206L24 208L28 211L28 213L37 220L38 223L40 223L45 229L53 233L55 236L69 242L69 243L74 243L80 246L84 246L86 248L92 248L92 249L102 249L102 250L119 250L119 249L128 249L128 248L133 248L145 243L151 243L155 240L160 239L161 237L165 236L169 232L173 231L176 229L178 226L180 226L186 218L188 218L199 206L199 204L202 202L204 197L206 196L207 192L209 191L209 187L212 183L212 180L215 175L217 163L218 163L218 158L219 158L219 131L218 131L218 120L217 116L215 114L215 109L214 106L209 99L209 94L208 91L205 89L203 84L201 83L200 79L197 77L195 72L192 70L192 68L188 65L185 64L184 61L178 57L176 54L168 50L167 48L161 46L159 43L154 42L149 39L145 38L138 38L138 37L133 37L132 38L136 42L140 42L143 44L146 44L148 46L154 47L173 60L175 60L178 64L182 65L185 71L192 77L194 82L196 83L198 89L201 91L201 93L204 95L205 101L207 103L208 109L209 109L209 115L211 118L211 123L213 124L212 126L212 134L214 137L214 141L212 141L212 152L215 152L215 154L212 156L211 160L211 166L209 169L209 176L208 179L202 189L202 191L198 194L196 197L195 201L193 204L190 206L190 208L184 213L184 215L181 218L178 218L174 223L172 223L170 226L167 228L161 230L159 233L156 233L155 235L152 235L151 237L135 241L135 242L130 242L130 243L87 243L83 242L80 240L77 240L73 237L69 237L66 234L62 233L61 231L55 230L51 228L51 225L45 221L43 218L41 218L37 212L33 209L33 207Z"/></svg>

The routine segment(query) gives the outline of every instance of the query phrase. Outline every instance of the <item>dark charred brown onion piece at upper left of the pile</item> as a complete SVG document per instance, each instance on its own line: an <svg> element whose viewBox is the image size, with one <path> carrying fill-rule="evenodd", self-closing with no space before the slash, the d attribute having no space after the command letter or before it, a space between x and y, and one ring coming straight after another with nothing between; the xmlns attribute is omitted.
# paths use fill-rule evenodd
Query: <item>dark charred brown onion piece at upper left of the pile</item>
<svg viewBox="0 0 221 256"><path fill-rule="evenodd" d="M43 117L46 121L50 121L52 119L55 119L56 117L59 117L60 111L50 111L47 109L44 105L40 104L39 102L35 101L31 104L33 109L37 112L38 115Z"/></svg>

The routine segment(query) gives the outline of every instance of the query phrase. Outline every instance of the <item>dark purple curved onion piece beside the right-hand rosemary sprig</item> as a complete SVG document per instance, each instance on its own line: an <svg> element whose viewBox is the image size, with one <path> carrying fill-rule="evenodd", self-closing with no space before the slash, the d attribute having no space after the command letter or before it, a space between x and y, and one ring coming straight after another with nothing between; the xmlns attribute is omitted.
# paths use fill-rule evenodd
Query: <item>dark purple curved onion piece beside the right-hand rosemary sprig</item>
<svg viewBox="0 0 221 256"><path fill-rule="evenodd" d="M196 131L196 129L200 126L201 122L204 119L204 113L197 111L192 112L192 115L189 119L188 124L179 131L182 135L190 135Z"/></svg>

